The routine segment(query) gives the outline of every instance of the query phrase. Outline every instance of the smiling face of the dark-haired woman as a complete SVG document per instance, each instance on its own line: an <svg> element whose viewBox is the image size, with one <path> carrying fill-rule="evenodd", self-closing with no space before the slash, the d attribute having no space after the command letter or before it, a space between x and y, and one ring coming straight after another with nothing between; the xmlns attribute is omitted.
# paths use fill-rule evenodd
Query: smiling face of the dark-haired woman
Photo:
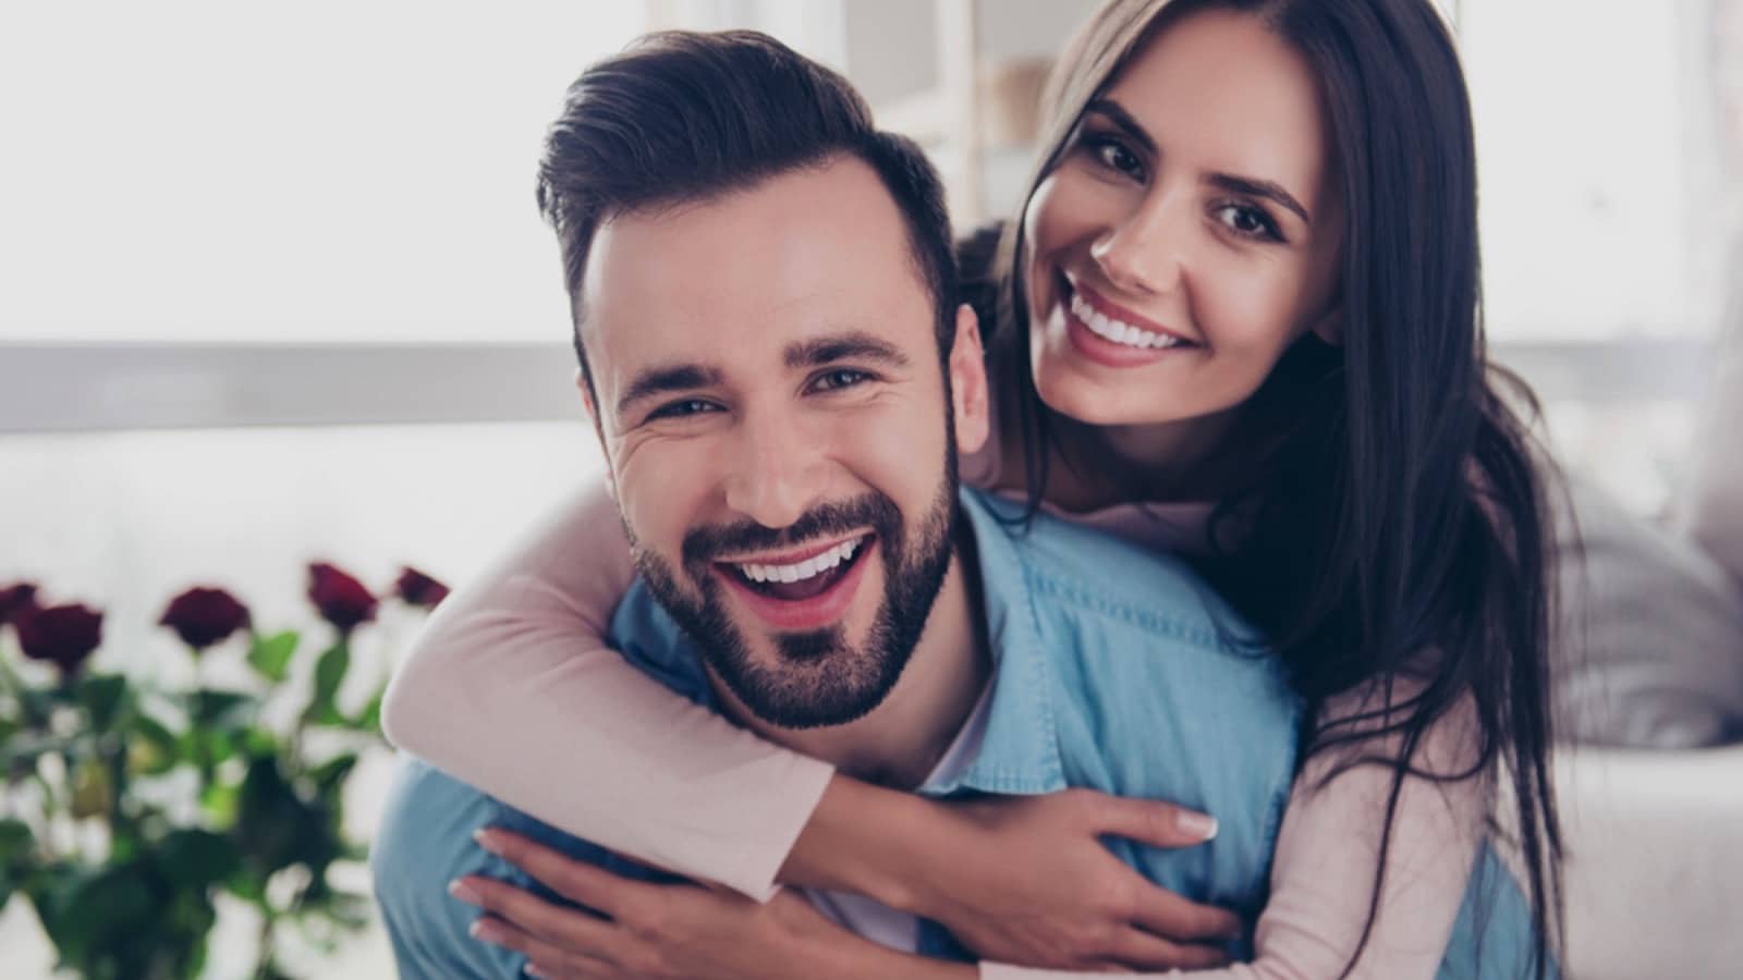
<svg viewBox="0 0 1743 980"><path fill-rule="evenodd" d="M1222 417L1302 333L1335 340L1342 223L1307 63L1246 14L1170 24L1028 201L1035 389L1098 425Z"/></svg>

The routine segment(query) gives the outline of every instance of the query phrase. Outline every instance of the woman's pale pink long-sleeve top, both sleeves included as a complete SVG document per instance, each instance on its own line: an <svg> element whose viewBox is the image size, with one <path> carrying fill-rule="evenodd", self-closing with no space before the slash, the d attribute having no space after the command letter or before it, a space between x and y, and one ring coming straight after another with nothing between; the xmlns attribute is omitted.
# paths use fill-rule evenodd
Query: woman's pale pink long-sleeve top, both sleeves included
<svg viewBox="0 0 1743 980"><path fill-rule="evenodd" d="M962 478L997 485L995 453L966 457ZM1190 553L1203 548L1210 507L1055 513ZM767 898L833 767L692 704L617 656L603 636L633 577L617 504L603 487L580 493L441 603L389 691L387 736L553 827ZM1347 717L1368 698L1347 694L1328 711ZM1426 771L1466 771L1476 752L1469 715L1448 713L1421 752ZM1307 764L1290 797L1253 961L1192 977L1319 980L1356 950L1393 776L1361 766L1319 786L1335 764L1328 755ZM1487 813L1483 779L1405 781L1380 912L1351 977L1434 977ZM983 980L1081 977L1089 973L981 964Z"/></svg>

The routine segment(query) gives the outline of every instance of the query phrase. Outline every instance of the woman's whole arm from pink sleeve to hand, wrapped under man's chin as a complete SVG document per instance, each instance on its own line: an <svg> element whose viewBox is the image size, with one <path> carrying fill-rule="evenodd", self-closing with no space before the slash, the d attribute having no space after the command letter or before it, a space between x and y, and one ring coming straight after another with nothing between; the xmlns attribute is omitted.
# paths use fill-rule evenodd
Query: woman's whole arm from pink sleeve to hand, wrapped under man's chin
<svg viewBox="0 0 1743 980"><path fill-rule="evenodd" d="M1180 943L1231 928L1100 844L1203 842L1178 807L1100 793L1020 818L946 807L837 776L678 698L605 645L631 579L610 495L580 495L443 602L389 689L389 738L629 858L758 900L776 877L870 895L983 954L1075 963L1117 954L1109 936L1135 926ZM1182 945L1166 963L1204 954Z"/></svg>

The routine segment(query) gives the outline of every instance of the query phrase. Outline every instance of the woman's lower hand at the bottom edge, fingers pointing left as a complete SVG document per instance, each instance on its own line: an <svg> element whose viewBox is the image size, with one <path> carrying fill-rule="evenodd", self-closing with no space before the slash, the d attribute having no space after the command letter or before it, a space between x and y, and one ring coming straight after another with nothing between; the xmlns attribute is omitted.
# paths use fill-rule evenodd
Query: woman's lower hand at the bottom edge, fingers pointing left
<svg viewBox="0 0 1743 980"><path fill-rule="evenodd" d="M976 970L898 954L823 917L793 891L760 905L692 884L647 884L575 861L500 828L479 846L558 895L605 917L553 905L511 884L469 875L457 898L479 905L472 935L563 980L814 980L816 977L973 980Z"/></svg>

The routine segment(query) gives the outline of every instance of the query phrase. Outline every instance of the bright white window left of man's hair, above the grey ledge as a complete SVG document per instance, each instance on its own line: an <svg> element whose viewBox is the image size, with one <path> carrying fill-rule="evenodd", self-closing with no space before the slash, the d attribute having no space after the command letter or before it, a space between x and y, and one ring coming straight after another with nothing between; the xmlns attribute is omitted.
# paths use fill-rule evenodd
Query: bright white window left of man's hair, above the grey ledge
<svg viewBox="0 0 1743 980"><path fill-rule="evenodd" d="M10 3L0 342L533 340L533 167L641 3Z"/></svg>

